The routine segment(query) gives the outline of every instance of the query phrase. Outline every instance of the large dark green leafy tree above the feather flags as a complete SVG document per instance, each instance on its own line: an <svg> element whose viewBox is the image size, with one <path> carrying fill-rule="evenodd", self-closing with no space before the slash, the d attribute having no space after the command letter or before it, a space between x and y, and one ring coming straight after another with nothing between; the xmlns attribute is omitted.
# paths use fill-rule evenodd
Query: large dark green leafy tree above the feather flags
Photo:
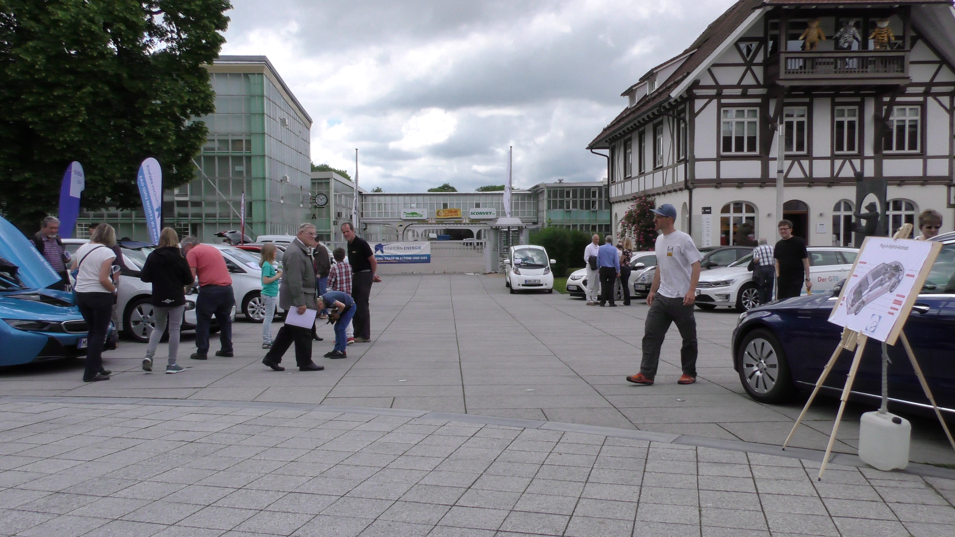
<svg viewBox="0 0 955 537"><path fill-rule="evenodd" d="M215 112L203 64L224 42L228 0L0 0L0 211L35 229L56 209L70 161L82 204L140 206L139 162L156 157L172 188Z"/></svg>

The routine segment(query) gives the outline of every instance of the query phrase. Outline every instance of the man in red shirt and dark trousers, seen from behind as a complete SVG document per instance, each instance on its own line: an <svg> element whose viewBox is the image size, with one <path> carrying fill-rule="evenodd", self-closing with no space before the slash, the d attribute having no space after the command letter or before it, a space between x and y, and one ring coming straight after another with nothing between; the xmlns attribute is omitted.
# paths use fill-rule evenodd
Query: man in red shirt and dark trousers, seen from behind
<svg viewBox="0 0 955 537"><path fill-rule="evenodd" d="M199 298L196 299L196 352L190 358L208 359L209 322L212 315L219 323L219 342L222 349L217 356L232 357L232 308L236 304L232 292L232 276L225 266L219 248L203 245L196 237L182 239L185 254L193 277L199 278Z"/></svg>

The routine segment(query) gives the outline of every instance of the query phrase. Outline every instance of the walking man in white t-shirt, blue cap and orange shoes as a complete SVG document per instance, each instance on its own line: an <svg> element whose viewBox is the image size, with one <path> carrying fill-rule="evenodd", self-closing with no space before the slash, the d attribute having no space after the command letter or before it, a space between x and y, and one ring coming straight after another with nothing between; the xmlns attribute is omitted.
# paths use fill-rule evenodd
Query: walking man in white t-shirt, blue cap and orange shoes
<svg viewBox="0 0 955 537"><path fill-rule="evenodd" d="M696 319L693 317L693 303L696 301L696 283L700 279L700 260L703 256L690 235L673 227L676 221L676 208L673 205L662 204L650 210L654 212L653 223L661 232L657 236L655 248L657 269L647 295L650 310L647 311L644 325L644 358L640 362L640 373L627 376L626 380L634 384L653 384L660 363L660 347L672 322L683 338L683 347L680 349L683 376L677 383L692 384L696 382Z"/></svg>

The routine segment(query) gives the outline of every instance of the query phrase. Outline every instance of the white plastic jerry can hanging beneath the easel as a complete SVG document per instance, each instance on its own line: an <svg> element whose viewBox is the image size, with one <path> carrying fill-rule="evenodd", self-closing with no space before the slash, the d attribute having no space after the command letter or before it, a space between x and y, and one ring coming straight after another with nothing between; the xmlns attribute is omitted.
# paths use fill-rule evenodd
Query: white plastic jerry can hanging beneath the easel
<svg viewBox="0 0 955 537"><path fill-rule="evenodd" d="M908 465L912 424L895 414L866 412L859 423L859 459L880 470Z"/></svg>

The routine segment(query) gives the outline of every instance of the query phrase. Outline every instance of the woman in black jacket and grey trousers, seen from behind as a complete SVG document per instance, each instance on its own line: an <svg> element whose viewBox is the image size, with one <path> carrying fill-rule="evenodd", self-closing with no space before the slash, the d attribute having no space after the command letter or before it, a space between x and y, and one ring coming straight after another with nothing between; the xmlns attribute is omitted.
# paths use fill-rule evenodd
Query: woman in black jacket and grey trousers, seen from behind
<svg viewBox="0 0 955 537"><path fill-rule="evenodd" d="M163 227L159 234L159 247L153 250L142 266L139 279L153 284L153 297L150 301L156 311L156 328L149 336L146 357L142 359L142 370L153 371L153 356L159 347L159 339L169 324L169 360L166 373L179 373L184 368L176 363L179 354L180 327L185 313L185 286L192 284L192 270L179 247L179 235L172 227Z"/></svg>

